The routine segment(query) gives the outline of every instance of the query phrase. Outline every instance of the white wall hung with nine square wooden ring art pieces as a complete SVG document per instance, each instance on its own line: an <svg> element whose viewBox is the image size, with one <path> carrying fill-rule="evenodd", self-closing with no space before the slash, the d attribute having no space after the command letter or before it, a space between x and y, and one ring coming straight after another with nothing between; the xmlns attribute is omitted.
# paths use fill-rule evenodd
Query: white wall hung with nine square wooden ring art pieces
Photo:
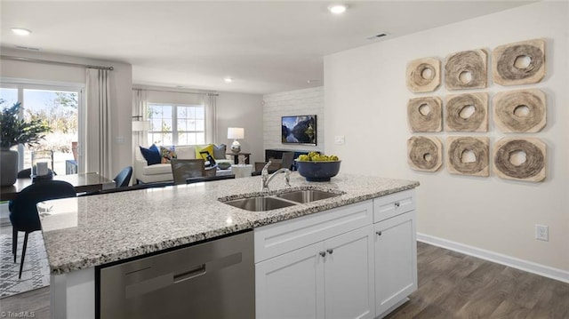
<svg viewBox="0 0 569 319"><path fill-rule="evenodd" d="M325 136L345 135L345 145L326 144L341 156L342 171L415 179L418 232L569 271L569 4L528 4L506 12L433 28L325 57ZM407 100L449 94L413 94L405 86L409 61L452 52L544 38L547 75L539 84L489 87L476 92L540 88L548 96L548 124L531 134L548 145L547 179L541 183L413 171L405 141ZM489 61L491 54L489 54ZM490 76L489 79L492 79ZM490 106L492 108L492 105ZM453 133L437 133L445 140ZM493 143L507 135L490 119ZM510 134L511 135L511 134ZM530 134L527 134L530 135ZM445 143L444 143L445 144ZM492 166L492 164L491 164ZM549 242L534 239L534 225L549 226ZM565 273L566 274L566 273Z"/></svg>

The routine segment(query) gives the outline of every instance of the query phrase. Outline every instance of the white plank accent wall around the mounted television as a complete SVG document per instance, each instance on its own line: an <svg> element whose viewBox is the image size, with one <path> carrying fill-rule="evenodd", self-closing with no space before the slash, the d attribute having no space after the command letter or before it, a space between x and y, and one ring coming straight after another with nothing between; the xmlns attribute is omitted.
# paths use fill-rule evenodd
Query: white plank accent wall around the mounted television
<svg viewBox="0 0 569 319"><path fill-rule="evenodd" d="M324 151L324 87L263 95L265 148ZM281 116L317 116L317 146L283 144Z"/></svg>

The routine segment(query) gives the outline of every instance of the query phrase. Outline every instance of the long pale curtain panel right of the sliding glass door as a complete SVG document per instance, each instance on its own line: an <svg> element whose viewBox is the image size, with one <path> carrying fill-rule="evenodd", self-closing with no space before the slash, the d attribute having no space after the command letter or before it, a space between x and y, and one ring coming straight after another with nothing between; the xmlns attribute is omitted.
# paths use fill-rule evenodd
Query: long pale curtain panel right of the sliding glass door
<svg viewBox="0 0 569 319"><path fill-rule="evenodd" d="M106 69L87 68L86 171L98 171L102 176L114 179L108 73Z"/></svg>

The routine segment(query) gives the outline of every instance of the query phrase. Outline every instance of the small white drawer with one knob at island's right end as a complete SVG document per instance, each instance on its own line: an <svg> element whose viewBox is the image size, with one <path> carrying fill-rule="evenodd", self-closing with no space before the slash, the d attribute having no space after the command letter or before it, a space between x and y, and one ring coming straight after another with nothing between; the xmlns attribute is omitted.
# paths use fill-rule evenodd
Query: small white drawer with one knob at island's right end
<svg viewBox="0 0 569 319"><path fill-rule="evenodd" d="M415 209L414 189L373 199L373 222L390 219Z"/></svg>

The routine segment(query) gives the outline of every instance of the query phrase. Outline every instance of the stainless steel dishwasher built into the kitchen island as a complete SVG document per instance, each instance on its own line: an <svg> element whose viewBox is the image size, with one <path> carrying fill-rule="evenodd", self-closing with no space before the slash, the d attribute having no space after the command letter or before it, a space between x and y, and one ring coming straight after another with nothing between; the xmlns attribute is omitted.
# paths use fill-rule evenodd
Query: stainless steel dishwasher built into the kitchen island
<svg viewBox="0 0 569 319"><path fill-rule="evenodd" d="M254 318L253 232L100 267L107 318Z"/></svg>

